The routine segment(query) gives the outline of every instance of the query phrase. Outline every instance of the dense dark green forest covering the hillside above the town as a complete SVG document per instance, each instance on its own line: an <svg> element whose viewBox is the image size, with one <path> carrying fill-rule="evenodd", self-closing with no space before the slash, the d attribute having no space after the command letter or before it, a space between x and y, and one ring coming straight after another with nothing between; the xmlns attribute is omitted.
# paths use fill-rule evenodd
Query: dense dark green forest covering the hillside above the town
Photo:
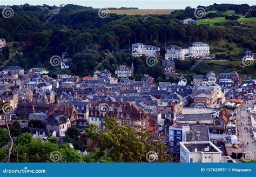
<svg viewBox="0 0 256 177"><path fill-rule="evenodd" d="M23 4L22 6L10 6L10 8L14 10L13 17L0 17L0 37L6 39L7 42L12 42L12 46L3 49L0 54L0 63L4 63L11 53L19 51L10 62L25 69L41 66L54 70L49 65L50 58L53 55L61 56L62 52L66 51L69 57L73 58L71 73L86 76L92 74L93 68L102 62L107 53L113 51L113 57L104 62L99 69L108 69L113 73L118 65L130 66L133 62L136 79L140 78L139 74L143 73L150 74L154 78L161 78L163 77L161 58L153 69L145 67L145 56L135 58L130 55L132 44L156 45L161 49L161 56L164 56L164 49L167 45L187 47L193 42L218 44L224 41L246 50L256 48L255 28L244 28L241 25L230 27L180 24L179 19L194 18L195 9L190 7L185 10L175 10L170 15L152 14L146 20L141 15L127 16L112 13L107 18L100 18L98 9L73 4L59 7L45 4L43 6ZM213 4L203 8L206 11L218 10L218 13L214 14L223 16L221 13L227 10L235 10L244 14L250 6L247 4ZM215 15L207 13L208 18ZM255 16L255 10L248 16ZM232 60L233 57L238 57L228 53L218 54L212 46L210 49L211 52L217 53L218 59ZM213 67L204 62L200 65L201 68ZM177 68L180 69L179 63ZM221 71L226 69L228 66L224 66ZM206 71L195 70L194 72L204 74Z"/></svg>

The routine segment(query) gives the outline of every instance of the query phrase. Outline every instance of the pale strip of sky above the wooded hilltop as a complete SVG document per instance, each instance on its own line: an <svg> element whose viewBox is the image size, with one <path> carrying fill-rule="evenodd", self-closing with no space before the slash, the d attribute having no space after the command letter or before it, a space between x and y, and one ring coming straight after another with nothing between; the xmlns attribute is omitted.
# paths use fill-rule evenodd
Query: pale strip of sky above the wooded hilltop
<svg viewBox="0 0 256 177"><path fill-rule="evenodd" d="M30 5L57 5L60 4L78 4L83 6L92 6L92 8L139 8L139 9L185 9L186 6L197 8L198 5L211 5L214 3L231 4L249 4L256 5L255 0L0 0L1 5L21 5L29 3Z"/></svg>

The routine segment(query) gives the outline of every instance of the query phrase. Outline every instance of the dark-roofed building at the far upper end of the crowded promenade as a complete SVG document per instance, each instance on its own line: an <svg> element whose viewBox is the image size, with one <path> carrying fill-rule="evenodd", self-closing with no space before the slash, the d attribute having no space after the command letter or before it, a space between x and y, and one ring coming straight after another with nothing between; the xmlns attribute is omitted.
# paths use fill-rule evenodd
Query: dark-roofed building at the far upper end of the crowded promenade
<svg viewBox="0 0 256 177"><path fill-rule="evenodd" d="M220 85L223 85L222 83L227 83L227 85L232 84L232 86L239 86L242 83L241 76L237 72L220 73L218 79L219 79ZM232 82L230 80L221 80L221 79L231 79Z"/></svg>

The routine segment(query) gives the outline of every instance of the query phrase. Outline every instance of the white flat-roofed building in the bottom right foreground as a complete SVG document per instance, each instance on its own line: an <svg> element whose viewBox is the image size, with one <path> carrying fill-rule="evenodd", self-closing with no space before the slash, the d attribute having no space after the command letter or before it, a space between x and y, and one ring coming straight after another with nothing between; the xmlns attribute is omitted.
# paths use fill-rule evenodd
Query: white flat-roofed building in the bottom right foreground
<svg viewBox="0 0 256 177"><path fill-rule="evenodd" d="M219 163L221 151L211 141L180 142L180 162Z"/></svg>

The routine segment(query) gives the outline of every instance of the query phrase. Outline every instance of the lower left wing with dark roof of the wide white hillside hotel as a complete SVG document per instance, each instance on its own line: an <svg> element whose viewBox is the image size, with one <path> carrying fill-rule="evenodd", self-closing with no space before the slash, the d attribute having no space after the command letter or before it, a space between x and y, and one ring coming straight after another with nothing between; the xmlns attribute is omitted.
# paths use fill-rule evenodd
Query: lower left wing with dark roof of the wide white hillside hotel
<svg viewBox="0 0 256 177"><path fill-rule="evenodd" d="M166 47L165 59L185 59L185 56L188 56L188 49L181 49L177 45L170 45Z"/></svg>

